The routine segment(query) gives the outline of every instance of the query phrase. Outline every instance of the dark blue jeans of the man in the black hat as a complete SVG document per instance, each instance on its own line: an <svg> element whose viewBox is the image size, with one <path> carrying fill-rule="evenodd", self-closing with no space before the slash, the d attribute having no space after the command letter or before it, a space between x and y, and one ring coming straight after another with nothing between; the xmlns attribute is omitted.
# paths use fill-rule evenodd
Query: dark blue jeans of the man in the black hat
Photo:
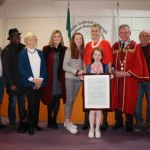
<svg viewBox="0 0 150 150"><path fill-rule="evenodd" d="M16 101L18 100L18 110L19 110L19 118L20 121L25 119L26 117L26 109L25 109L25 95L9 95L9 104L8 104L8 118L10 125L16 124Z"/></svg>

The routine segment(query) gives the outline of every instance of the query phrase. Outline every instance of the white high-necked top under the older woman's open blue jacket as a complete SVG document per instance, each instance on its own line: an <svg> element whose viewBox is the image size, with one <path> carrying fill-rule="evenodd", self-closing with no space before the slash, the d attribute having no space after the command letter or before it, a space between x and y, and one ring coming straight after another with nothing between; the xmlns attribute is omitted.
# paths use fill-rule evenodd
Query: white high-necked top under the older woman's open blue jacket
<svg viewBox="0 0 150 150"><path fill-rule="evenodd" d="M40 67L41 67L41 59L36 49L27 48L27 54L30 61L31 70L33 73L33 77L30 77L28 80L32 81L33 78L40 77Z"/></svg>

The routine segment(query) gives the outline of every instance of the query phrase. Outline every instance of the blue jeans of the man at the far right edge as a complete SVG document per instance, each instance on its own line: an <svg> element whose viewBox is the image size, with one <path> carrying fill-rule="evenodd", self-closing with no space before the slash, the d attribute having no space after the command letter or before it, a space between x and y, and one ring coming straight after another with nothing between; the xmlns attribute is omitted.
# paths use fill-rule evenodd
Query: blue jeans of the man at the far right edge
<svg viewBox="0 0 150 150"><path fill-rule="evenodd" d="M150 81L147 82L139 82L138 83L138 99L135 110L135 118L137 120L137 124L142 125L142 101L144 97L144 93L146 95L147 100L147 120L146 126L150 127Z"/></svg>

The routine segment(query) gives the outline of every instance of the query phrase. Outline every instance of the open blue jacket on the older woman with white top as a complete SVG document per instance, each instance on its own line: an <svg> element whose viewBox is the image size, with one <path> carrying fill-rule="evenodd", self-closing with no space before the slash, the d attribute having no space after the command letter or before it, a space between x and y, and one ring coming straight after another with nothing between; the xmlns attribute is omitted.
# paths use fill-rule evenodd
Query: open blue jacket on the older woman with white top
<svg viewBox="0 0 150 150"><path fill-rule="evenodd" d="M45 57L43 55L43 52L40 50L37 50L39 57L41 59L41 66L40 66L40 78L43 78L43 82L41 87L44 87L46 85L48 75L46 70L46 62ZM34 61L34 60L33 60ZM23 49L21 53L19 54L19 72L20 72L20 85L21 87L34 87L35 84L28 79L30 77L33 77L29 57L27 54L27 49Z"/></svg>

